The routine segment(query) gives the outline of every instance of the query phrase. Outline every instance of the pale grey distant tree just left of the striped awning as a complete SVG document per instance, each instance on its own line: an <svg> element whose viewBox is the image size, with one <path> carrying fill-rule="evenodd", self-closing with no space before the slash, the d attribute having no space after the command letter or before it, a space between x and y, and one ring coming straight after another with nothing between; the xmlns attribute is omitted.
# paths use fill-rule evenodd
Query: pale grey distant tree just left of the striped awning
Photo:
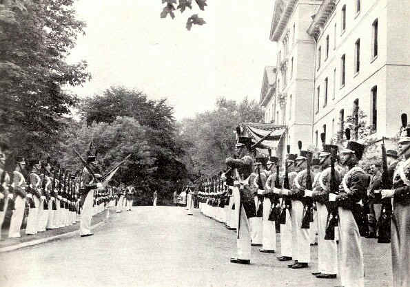
<svg viewBox="0 0 410 287"><path fill-rule="evenodd" d="M205 111L181 122L178 134L187 150L184 162L192 175L214 176L225 168L225 158L234 153L234 131L238 123L260 122L263 110L255 100L240 103L216 100L213 111Z"/></svg>

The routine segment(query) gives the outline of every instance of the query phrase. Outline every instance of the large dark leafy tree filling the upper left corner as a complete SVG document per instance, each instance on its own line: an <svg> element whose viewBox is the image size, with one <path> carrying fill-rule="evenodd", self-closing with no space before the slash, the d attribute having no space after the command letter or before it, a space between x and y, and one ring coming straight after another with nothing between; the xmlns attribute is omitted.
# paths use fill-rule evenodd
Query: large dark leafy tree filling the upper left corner
<svg viewBox="0 0 410 287"><path fill-rule="evenodd" d="M73 3L0 2L1 136L26 156L58 142L63 116L77 102L63 87L90 78L85 62L66 62L85 25L75 18Z"/></svg>

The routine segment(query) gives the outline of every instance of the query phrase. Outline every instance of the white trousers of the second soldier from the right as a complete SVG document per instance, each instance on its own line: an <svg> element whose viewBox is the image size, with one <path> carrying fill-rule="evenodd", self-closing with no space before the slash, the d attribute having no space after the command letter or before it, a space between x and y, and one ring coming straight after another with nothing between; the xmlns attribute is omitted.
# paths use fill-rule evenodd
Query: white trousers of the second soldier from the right
<svg viewBox="0 0 410 287"><path fill-rule="evenodd" d="M340 281L344 287L363 287L365 264L359 228L350 210L338 207L338 211Z"/></svg>

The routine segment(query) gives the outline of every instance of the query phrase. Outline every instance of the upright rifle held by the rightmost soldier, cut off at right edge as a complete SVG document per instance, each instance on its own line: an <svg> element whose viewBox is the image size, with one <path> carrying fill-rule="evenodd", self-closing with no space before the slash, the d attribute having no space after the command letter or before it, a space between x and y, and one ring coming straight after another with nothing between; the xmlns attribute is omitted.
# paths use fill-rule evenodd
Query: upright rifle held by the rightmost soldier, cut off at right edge
<svg viewBox="0 0 410 287"><path fill-rule="evenodd" d="M387 156L386 156L386 147L385 147L385 137L382 138L382 187L383 189L391 189L393 187L393 182L391 176L389 175L389 168L387 167ZM378 193L381 198L381 193ZM378 243L390 243L391 237L391 211L393 207L391 206L390 198L381 200L382 203L382 212L378 218Z"/></svg>

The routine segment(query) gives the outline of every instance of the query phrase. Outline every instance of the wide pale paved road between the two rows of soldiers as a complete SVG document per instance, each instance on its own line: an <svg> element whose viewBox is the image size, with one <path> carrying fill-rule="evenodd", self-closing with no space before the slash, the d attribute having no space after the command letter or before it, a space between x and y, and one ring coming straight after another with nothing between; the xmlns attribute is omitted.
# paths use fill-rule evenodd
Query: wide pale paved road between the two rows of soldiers
<svg viewBox="0 0 410 287"><path fill-rule="evenodd" d="M72 237L0 255L0 286L336 286L309 269L290 270L252 249L252 264L229 264L236 236L178 207L112 213L91 237ZM366 286L391 286L389 244L365 240Z"/></svg>

